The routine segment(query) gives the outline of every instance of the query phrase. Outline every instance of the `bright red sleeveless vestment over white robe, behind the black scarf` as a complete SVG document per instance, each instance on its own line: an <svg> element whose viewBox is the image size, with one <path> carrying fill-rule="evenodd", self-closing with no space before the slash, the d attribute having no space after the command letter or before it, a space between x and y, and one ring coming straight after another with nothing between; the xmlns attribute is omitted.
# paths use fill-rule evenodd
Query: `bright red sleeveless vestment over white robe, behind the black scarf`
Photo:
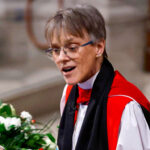
<svg viewBox="0 0 150 150"><path fill-rule="evenodd" d="M66 102L73 86L69 85L66 91ZM107 131L109 150L116 150L119 126L122 112L131 98L150 111L150 103L145 96L133 84L128 82L118 71L115 77L107 102Z"/></svg>

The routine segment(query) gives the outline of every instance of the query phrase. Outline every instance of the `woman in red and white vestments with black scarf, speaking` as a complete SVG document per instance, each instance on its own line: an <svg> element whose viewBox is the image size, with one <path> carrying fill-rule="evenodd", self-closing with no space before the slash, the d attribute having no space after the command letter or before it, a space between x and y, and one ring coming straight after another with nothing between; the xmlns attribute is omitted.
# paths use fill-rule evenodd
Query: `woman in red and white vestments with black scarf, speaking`
<svg viewBox="0 0 150 150"><path fill-rule="evenodd" d="M150 103L108 61L100 12L89 5L60 10L45 36L66 81L59 149L150 150Z"/></svg>

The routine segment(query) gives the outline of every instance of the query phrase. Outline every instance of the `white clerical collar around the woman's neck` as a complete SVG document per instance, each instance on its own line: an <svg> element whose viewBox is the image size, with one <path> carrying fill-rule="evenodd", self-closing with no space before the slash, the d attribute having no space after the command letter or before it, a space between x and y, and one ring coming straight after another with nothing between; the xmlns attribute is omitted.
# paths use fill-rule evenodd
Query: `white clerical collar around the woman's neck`
<svg viewBox="0 0 150 150"><path fill-rule="evenodd" d="M82 89L92 89L97 75L98 75L98 72L95 75L93 75L90 79L88 79L87 81L78 83L78 86Z"/></svg>

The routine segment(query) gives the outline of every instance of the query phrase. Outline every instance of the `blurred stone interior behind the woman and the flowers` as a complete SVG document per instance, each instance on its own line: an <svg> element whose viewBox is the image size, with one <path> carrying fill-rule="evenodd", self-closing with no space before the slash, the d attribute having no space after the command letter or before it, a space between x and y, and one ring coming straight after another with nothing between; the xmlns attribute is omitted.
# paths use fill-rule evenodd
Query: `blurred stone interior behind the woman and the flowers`
<svg viewBox="0 0 150 150"><path fill-rule="evenodd" d="M88 3L103 14L110 61L150 100L150 0L0 0L0 99L43 121L59 118L65 82L43 50L60 8Z"/></svg>

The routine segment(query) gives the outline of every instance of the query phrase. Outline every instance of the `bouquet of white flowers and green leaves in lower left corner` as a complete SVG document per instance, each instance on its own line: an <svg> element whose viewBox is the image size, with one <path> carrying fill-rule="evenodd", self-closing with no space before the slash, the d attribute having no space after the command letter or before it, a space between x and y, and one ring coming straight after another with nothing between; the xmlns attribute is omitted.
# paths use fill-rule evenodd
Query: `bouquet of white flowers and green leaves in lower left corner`
<svg viewBox="0 0 150 150"><path fill-rule="evenodd" d="M0 102L0 150L56 150L55 138L45 133L48 124L37 129L28 112L20 116L11 104Z"/></svg>

